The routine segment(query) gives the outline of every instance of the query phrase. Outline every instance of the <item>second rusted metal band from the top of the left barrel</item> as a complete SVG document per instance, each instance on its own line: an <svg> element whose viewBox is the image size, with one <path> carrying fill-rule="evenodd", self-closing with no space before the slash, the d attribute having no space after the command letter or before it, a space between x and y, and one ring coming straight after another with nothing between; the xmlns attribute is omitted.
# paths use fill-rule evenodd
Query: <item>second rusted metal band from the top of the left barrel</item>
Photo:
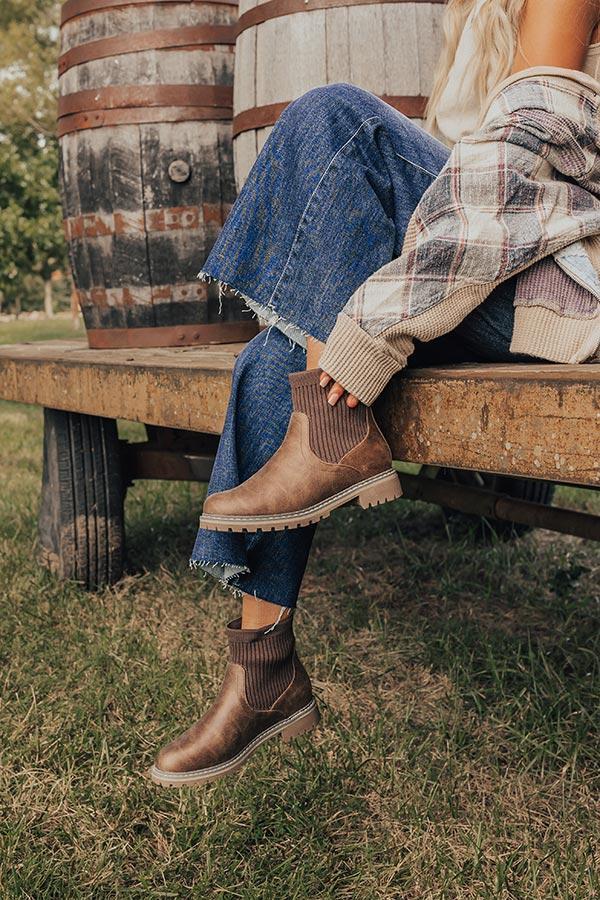
<svg viewBox="0 0 600 900"><path fill-rule="evenodd" d="M122 56L140 50L201 49L203 46L211 48L216 44L235 44L233 25L192 25L189 28L162 28L118 34L101 41L88 41L87 44L67 50L58 58L58 74L63 75L72 66L94 59Z"/></svg>

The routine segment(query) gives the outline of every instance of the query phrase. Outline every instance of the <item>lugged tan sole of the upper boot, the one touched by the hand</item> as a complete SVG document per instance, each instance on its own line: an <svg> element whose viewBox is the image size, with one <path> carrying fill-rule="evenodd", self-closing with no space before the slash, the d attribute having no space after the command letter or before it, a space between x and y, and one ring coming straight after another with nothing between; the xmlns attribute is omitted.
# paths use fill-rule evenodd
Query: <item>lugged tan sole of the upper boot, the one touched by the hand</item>
<svg viewBox="0 0 600 900"><path fill-rule="evenodd" d="M363 509L379 506L402 496L402 488L398 473L394 469L373 475L365 481L309 506L292 513L280 513L269 516L212 516L203 513L200 516L200 527L209 531L250 532L286 531L288 528L304 528L326 519L334 509L347 503L357 502Z"/></svg>

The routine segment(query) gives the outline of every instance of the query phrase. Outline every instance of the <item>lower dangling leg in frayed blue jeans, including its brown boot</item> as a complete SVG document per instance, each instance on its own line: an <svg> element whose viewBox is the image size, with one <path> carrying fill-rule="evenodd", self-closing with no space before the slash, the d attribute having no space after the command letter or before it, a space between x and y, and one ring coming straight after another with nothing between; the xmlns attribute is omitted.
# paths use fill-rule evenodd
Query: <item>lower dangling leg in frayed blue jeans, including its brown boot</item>
<svg viewBox="0 0 600 900"><path fill-rule="evenodd" d="M288 375L305 354L273 329L257 335L234 367L209 492L252 474L281 442L290 417ZM314 529L293 535L198 531L191 564L242 595L226 628L229 661L214 703L159 752L150 770L162 785L200 784L235 771L263 740L312 728L318 712L295 650L292 613Z"/></svg>

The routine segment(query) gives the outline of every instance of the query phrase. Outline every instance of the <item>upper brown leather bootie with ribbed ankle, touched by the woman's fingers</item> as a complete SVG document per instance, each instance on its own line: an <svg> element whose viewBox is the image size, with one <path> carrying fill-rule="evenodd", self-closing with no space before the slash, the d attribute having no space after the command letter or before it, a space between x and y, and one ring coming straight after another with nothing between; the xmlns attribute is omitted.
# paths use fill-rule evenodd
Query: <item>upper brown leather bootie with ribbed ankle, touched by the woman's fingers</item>
<svg viewBox="0 0 600 900"><path fill-rule="evenodd" d="M370 407L330 406L319 369L289 376L293 411L281 447L243 484L211 494L202 528L283 531L312 525L346 503L400 497L392 454Z"/></svg>

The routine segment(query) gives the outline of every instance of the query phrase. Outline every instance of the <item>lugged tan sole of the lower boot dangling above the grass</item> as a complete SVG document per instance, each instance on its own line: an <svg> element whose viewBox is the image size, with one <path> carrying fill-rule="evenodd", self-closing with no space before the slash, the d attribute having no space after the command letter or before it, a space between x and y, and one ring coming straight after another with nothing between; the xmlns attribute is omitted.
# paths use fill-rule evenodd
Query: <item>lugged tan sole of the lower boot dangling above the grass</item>
<svg viewBox="0 0 600 900"><path fill-rule="evenodd" d="M148 774L155 784L160 784L163 787L207 784L209 781L216 781L217 778L223 778L224 775L230 775L241 768L254 751L258 750L260 745L268 741L269 738L280 734L284 741L291 741L292 738L305 734L305 732L314 728L315 725L318 725L320 718L317 704L315 700L311 700L310 703L303 706L302 709L299 709L293 715L288 716L287 719L276 722L275 725L271 725L270 728L258 734L237 756L220 763L218 766L197 769L193 772L165 772L157 766L152 766Z"/></svg>

